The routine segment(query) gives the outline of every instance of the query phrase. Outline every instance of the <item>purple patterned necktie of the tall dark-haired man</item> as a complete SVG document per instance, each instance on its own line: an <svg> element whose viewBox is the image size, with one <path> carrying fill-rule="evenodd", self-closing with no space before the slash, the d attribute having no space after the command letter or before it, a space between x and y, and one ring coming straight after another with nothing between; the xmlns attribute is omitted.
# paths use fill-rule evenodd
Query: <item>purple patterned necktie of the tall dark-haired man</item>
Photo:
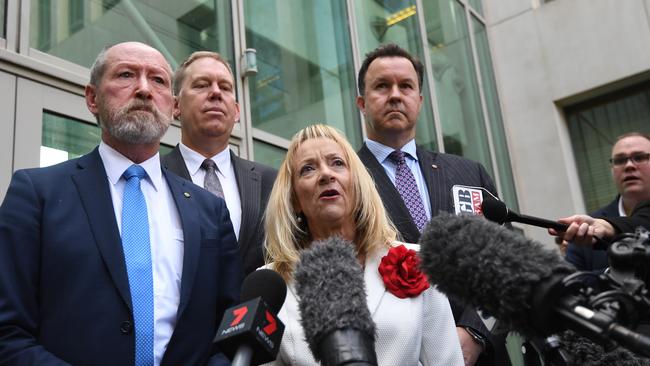
<svg viewBox="0 0 650 366"><path fill-rule="evenodd" d="M424 210L422 197L418 190L418 184L415 182L413 172L406 165L406 154L403 151L395 150L388 158L395 163L397 169L395 170L395 188L406 204L413 218L413 222L420 231L427 223L427 212Z"/></svg>

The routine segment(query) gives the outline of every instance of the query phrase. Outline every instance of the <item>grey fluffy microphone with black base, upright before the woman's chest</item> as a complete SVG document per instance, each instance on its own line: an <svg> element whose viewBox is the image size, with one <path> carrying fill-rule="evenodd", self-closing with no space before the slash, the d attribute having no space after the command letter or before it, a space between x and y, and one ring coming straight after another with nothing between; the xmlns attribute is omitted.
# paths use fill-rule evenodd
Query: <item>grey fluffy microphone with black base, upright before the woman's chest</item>
<svg viewBox="0 0 650 366"><path fill-rule="evenodd" d="M300 255L295 280L301 324L316 361L377 365L375 323L354 244L339 237L313 242Z"/></svg>

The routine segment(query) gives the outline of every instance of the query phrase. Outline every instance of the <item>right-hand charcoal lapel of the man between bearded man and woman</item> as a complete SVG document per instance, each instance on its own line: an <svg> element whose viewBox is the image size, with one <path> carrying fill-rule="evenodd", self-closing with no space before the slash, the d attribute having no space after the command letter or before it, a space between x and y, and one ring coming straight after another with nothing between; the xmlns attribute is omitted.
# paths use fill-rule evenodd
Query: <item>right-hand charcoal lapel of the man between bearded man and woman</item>
<svg viewBox="0 0 650 366"><path fill-rule="evenodd" d="M230 159L235 171L237 188L242 205L241 225L239 227L239 251L244 254L250 246L250 238L254 235L252 228L257 224L260 211L262 178L255 171L255 165L241 159L231 151Z"/></svg>

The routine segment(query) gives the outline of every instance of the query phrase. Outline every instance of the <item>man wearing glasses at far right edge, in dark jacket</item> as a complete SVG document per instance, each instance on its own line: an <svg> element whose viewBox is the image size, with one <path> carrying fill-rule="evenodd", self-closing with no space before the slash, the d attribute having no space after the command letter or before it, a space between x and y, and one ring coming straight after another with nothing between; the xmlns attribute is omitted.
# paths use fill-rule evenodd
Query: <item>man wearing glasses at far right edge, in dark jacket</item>
<svg viewBox="0 0 650 366"><path fill-rule="evenodd" d="M612 148L610 164L619 195L605 207L592 212L592 217L629 216L641 201L650 200L650 135L630 132L620 136ZM589 245L570 243L566 260L579 270L603 271L607 268L607 252L593 250Z"/></svg>

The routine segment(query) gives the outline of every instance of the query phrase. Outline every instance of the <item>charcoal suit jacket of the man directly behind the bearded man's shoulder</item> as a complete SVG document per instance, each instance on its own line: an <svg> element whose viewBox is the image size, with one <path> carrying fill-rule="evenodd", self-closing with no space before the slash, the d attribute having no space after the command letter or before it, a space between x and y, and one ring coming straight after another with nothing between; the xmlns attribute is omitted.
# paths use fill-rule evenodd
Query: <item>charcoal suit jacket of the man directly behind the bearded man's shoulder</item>
<svg viewBox="0 0 650 366"><path fill-rule="evenodd" d="M244 274L264 265L264 211L278 171L266 165L244 160L230 152L235 168L235 178L242 204L242 220L239 229L239 254ZM161 158L163 166L180 177L192 181L178 145Z"/></svg>

